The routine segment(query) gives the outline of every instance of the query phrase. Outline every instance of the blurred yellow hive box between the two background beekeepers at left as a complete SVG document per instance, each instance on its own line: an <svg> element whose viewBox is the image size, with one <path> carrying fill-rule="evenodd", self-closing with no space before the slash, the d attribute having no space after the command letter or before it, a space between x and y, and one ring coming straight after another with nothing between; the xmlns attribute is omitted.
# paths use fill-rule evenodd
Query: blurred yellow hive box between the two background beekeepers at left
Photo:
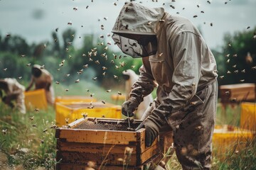
<svg viewBox="0 0 256 170"><path fill-rule="evenodd" d="M25 94L25 105L28 111L31 111L35 108L47 109L45 89L26 91L24 92L24 94Z"/></svg>

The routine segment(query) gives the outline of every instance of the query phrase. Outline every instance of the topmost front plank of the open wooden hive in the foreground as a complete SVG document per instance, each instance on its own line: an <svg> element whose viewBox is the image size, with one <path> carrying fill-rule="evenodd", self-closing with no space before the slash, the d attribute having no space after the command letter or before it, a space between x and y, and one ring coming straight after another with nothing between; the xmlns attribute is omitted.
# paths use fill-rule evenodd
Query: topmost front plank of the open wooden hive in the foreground
<svg viewBox="0 0 256 170"><path fill-rule="evenodd" d="M55 137L65 139L67 142L86 142L114 145L129 145L137 142L137 132L114 130L80 130L58 128Z"/></svg>

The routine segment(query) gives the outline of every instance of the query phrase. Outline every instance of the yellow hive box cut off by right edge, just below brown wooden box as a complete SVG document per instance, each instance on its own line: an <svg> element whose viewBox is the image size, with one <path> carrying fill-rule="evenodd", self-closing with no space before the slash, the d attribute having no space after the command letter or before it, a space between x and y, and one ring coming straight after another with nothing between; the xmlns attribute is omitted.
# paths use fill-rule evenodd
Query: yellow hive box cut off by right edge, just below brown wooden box
<svg viewBox="0 0 256 170"><path fill-rule="evenodd" d="M242 103L240 115L240 127L256 131L256 103Z"/></svg>

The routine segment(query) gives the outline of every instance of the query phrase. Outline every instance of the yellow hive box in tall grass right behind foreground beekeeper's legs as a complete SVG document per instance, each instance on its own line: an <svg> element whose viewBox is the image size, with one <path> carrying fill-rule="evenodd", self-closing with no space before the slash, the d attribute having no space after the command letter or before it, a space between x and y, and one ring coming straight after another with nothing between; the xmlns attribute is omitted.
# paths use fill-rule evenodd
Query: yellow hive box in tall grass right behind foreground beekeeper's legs
<svg viewBox="0 0 256 170"><path fill-rule="evenodd" d="M225 154L241 150L247 141L252 141L255 134L231 125L216 125L213 132L213 155L225 157Z"/></svg>

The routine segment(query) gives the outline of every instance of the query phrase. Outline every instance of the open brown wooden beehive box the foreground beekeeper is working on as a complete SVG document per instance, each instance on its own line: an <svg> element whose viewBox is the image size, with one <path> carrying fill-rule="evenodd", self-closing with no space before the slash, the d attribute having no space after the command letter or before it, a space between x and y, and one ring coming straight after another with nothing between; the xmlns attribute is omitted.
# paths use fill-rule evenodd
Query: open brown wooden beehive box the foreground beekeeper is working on
<svg viewBox="0 0 256 170"><path fill-rule="evenodd" d="M130 123L135 129L141 123ZM57 128L56 169L142 169L157 154L157 140L145 146L145 129L127 130L128 121L81 118L67 128Z"/></svg>

